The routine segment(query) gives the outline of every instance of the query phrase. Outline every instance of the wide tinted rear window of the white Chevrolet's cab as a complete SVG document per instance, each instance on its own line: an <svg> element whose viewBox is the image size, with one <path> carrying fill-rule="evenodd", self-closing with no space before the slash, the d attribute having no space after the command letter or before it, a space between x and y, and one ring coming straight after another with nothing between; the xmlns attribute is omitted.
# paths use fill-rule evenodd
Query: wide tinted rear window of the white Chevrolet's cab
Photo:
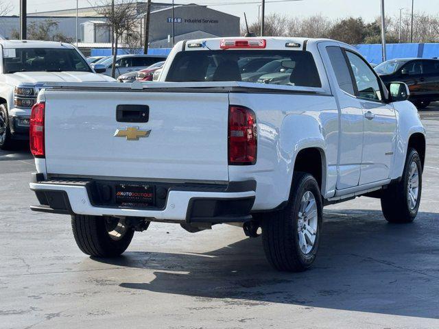
<svg viewBox="0 0 439 329"><path fill-rule="evenodd" d="M182 51L174 58L166 81L322 86L311 53L288 50Z"/></svg>

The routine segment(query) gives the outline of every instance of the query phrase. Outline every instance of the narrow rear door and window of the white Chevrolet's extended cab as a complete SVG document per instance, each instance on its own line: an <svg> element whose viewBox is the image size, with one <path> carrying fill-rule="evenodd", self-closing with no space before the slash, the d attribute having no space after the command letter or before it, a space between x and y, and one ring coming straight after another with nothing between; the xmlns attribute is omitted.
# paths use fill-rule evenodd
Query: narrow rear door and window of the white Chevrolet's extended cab
<svg viewBox="0 0 439 329"><path fill-rule="evenodd" d="M340 115L340 137L337 154L337 190L358 185L363 145L363 111L355 89L351 72L342 49L336 42L319 44L320 53L327 68L331 90L336 95ZM338 88L337 88L338 86Z"/></svg>

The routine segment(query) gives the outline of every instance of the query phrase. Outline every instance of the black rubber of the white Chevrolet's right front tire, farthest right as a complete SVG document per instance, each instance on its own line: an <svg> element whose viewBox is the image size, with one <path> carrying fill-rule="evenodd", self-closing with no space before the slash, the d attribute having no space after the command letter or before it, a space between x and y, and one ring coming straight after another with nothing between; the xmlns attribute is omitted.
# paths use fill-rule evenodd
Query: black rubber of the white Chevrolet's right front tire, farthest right
<svg viewBox="0 0 439 329"><path fill-rule="evenodd" d="M416 203L413 203L414 207L410 206L409 195L409 186L412 184L410 181L410 168L412 163L416 165L418 170L418 197L416 198ZM390 223L410 223L414 221L418 214L420 204L420 195L423 186L422 173L422 165L418 152L413 148L408 149L401 181L388 186L388 188L381 192L381 209L387 221ZM414 186L414 184L412 186Z"/></svg>

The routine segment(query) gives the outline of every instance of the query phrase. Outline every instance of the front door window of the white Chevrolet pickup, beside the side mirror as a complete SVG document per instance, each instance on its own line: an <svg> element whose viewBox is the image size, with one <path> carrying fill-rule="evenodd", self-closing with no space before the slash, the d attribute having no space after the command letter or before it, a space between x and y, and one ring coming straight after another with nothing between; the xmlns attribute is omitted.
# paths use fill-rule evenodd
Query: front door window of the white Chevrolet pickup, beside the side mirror
<svg viewBox="0 0 439 329"><path fill-rule="evenodd" d="M357 86L357 97L370 99L373 101L381 101L381 88L377 75L370 69L366 62L351 51L346 51L349 63L351 64L351 72Z"/></svg>

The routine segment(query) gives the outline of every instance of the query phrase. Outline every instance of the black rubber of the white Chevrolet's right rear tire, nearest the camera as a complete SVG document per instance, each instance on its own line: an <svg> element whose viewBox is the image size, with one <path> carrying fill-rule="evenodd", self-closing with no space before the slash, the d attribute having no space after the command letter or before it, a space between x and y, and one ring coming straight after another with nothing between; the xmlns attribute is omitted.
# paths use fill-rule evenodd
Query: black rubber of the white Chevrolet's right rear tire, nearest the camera
<svg viewBox="0 0 439 329"><path fill-rule="evenodd" d="M300 249L300 204L305 193L311 192L316 202L317 228L309 252ZM262 241L265 256L278 271L305 271L316 259L322 232L322 197L315 178L309 173L296 172L287 206L283 210L261 215Z"/></svg>

